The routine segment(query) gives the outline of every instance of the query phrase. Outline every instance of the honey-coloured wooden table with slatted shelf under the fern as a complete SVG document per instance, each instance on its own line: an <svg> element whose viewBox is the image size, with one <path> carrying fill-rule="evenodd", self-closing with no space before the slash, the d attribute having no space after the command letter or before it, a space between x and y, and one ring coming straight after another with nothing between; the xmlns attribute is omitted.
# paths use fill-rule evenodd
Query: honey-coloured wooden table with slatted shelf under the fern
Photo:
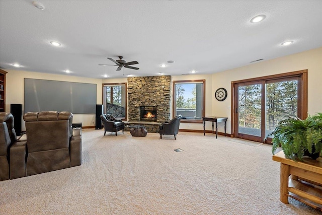
<svg viewBox="0 0 322 215"><path fill-rule="evenodd" d="M296 162L281 151L273 155L273 161L281 162L280 200L288 204L289 196L322 211L322 158Z"/></svg>

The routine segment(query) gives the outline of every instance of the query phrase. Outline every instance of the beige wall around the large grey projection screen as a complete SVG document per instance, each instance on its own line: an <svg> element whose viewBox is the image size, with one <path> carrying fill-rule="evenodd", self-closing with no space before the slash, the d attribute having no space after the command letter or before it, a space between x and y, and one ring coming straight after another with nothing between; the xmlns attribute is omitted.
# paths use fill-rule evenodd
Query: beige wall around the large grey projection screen
<svg viewBox="0 0 322 215"><path fill-rule="evenodd" d="M6 75L6 111L10 111L10 104L23 104L24 108L24 79L43 79L53 81L68 81L79 83L97 84L97 104L102 103L102 80L101 79L89 79L75 76L66 75L53 75L46 73L35 73L31 71L19 71L9 70ZM82 122L83 126L95 125L95 113L93 114L74 114L73 122ZM94 122L94 123L93 123ZM25 130L25 124L23 123L23 130Z"/></svg>

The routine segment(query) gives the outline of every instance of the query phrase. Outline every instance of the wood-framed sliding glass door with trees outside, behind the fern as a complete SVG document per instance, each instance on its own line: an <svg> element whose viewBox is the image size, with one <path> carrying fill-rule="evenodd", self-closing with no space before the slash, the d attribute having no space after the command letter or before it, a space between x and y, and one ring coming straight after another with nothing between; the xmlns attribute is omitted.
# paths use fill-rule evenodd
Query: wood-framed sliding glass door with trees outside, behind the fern
<svg viewBox="0 0 322 215"><path fill-rule="evenodd" d="M262 142L288 116L306 118L302 75L263 78L232 83L235 137Z"/></svg>

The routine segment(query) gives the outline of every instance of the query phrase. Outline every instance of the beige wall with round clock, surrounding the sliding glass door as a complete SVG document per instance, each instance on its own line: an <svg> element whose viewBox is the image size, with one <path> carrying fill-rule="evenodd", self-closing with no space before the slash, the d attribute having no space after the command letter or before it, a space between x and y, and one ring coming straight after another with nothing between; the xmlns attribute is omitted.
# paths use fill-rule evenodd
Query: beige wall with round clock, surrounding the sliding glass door
<svg viewBox="0 0 322 215"><path fill-rule="evenodd" d="M231 130L231 82L291 71L308 69L308 113L322 112L322 47L297 54L258 62L248 66L230 69L212 75L212 95L223 87L227 90L227 99L219 102L212 97L212 115L229 117L227 133ZM223 125L218 124L223 132Z"/></svg>

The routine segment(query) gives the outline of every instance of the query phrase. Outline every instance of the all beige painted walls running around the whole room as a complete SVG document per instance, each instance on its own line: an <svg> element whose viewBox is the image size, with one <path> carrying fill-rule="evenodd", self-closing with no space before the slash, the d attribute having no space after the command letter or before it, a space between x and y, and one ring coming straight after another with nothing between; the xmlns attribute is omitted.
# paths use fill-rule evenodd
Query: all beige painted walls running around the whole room
<svg viewBox="0 0 322 215"><path fill-rule="evenodd" d="M172 76L172 81L206 80L206 116L228 117L227 133L231 126L231 82L249 78L256 78L280 73L288 73L308 69L308 113L322 112L322 47L297 54L279 57L272 60L254 63L248 66L234 68L210 75ZM6 76L6 110L10 104L24 102L24 78L46 79L55 81L70 81L97 84L97 104L102 104L102 83L127 83L122 79L90 79L65 75L34 73L30 71L7 70ZM227 90L227 99L219 102L214 98L215 91L223 87ZM172 104L171 95L171 104ZM171 110L172 114L172 110ZM83 126L94 125L95 114L74 114L74 122L82 122ZM24 129L24 127L23 127ZM203 124L181 123L180 129L203 130ZM206 130L211 130L211 122L206 122ZM218 130L223 132L223 124L218 124Z"/></svg>

